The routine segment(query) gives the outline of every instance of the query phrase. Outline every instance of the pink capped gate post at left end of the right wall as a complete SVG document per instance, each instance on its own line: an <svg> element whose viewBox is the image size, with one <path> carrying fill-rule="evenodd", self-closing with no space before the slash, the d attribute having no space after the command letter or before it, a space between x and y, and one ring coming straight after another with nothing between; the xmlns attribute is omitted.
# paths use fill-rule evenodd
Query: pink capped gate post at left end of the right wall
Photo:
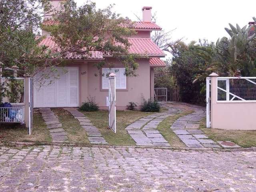
<svg viewBox="0 0 256 192"><path fill-rule="evenodd" d="M211 78L211 128L214 128L214 113L215 113L215 104L217 103L217 86L218 86L218 82L217 82L217 78L218 78L218 74L216 73L212 73L209 75Z"/></svg>

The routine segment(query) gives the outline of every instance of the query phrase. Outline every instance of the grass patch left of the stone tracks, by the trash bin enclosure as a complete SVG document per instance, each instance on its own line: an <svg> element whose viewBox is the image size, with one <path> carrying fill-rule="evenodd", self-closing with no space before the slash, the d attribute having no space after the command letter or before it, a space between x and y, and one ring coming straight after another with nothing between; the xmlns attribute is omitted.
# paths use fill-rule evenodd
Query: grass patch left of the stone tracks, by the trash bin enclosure
<svg viewBox="0 0 256 192"><path fill-rule="evenodd" d="M32 134L28 135L28 129L20 124L1 124L0 140L3 142L51 142L49 130L38 111L34 111Z"/></svg>

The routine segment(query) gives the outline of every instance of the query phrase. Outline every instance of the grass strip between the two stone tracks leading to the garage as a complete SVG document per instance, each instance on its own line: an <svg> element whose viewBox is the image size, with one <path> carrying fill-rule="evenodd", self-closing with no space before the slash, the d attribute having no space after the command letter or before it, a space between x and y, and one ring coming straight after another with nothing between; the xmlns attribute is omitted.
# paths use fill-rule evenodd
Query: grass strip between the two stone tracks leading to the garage
<svg viewBox="0 0 256 192"><path fill-rule="evenodd" d="M70 112L63 108L53 108L52 111L62 123L62 128L65 130L68 140L72 144L89 144L86 131L77 119Z"/></svg>

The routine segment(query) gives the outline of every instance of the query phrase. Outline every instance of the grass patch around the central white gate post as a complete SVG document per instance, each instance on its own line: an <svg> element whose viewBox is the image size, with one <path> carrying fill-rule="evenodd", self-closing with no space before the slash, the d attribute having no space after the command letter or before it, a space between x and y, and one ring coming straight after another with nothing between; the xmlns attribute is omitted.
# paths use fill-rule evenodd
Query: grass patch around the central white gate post
<svg viewBox="0 0 256 192"><path fill-rule="evenodd" d="M116 111L116 134L108 128L108 111L83 112L99 128L110 145L134 146L135 142L125 128L132 122L152 114L140 111Z"/></svg>

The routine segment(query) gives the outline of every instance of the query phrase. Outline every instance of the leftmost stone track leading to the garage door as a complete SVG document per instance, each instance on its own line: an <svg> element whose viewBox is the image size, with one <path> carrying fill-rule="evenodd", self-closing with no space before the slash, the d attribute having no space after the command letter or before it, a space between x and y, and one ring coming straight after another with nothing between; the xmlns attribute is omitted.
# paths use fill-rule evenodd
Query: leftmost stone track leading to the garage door
<svg viewBox="0 0 256 192"><path fill-rule="evenodd" d="M50 129L50 135L52 136L52 142L65 142L68 140L65 130L62 128L62 124L58 118L54 115L54 112L50 108L40 108L39 112L42 114L44 122L47 128Z"/></svg>

